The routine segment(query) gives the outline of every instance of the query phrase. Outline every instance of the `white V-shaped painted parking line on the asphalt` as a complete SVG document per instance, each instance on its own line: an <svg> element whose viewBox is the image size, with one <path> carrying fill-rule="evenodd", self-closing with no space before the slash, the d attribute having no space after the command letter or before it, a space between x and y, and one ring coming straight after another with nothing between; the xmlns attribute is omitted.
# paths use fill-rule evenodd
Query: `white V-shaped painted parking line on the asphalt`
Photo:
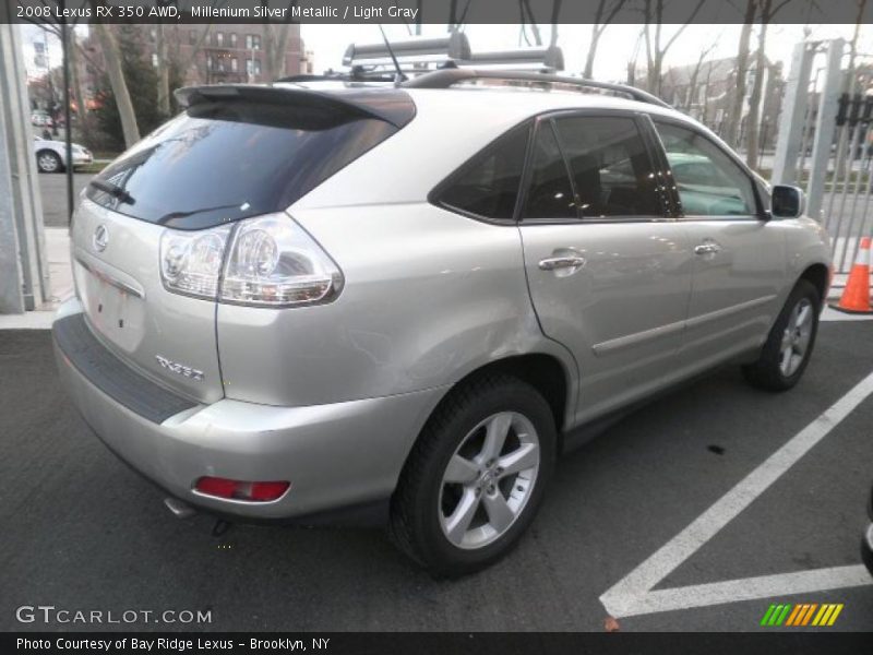
<svg viewBox="0 0 873 655"><path fill-rule="evenodd" d="M834 403L653 556L608 590L613 617L873 584L863 567L838 567L653 591L873 394L873 373ZM861 510L859 510L861 511Z"/></svg>

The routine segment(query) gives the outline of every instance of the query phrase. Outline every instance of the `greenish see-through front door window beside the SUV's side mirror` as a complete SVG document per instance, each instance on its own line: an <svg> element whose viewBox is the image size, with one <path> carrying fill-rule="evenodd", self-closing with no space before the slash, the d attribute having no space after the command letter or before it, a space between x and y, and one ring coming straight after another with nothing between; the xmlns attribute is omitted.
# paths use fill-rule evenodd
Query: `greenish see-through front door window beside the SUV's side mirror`
<svg viewBox="0 0 873 655"><path fill-rule="evenodd" d="M655 122L686 216L756 214L751 178L721 148L693 130Z"/></svg>

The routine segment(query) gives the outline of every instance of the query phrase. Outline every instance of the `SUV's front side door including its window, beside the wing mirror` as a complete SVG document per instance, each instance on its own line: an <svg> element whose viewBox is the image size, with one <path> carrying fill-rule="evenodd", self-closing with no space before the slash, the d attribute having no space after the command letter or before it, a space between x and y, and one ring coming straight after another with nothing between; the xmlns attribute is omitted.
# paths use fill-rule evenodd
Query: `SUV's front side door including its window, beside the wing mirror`
<svg viewBox="0 0 873 655"><path fill-rule="evenodd" d="M694 252L687 372L760 346L787 277L785 235L749 171L703 131L655 120Z"/></svg>

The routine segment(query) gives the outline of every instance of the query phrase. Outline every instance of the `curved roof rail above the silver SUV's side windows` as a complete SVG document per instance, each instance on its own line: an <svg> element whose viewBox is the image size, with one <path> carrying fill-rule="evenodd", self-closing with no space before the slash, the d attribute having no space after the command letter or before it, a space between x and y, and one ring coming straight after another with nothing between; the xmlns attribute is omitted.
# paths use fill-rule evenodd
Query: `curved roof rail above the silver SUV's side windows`
<svg viewBox="0 0 873 655"><path fill-rule="evenodd" d="M576 86L583 88L597 88L600 91L609 91L630 96L634 100L647 103L649 105L657 105L659 107L670 108L670 105L665 103L657 96L635 88L625 84L610 84L608 82L596 82L594 80L584 80L582 78L567 78L564 75L552 75L546 73L535 73L527 71L495 71L495 70L477 70L464 68L445 68L443 70L426 73L418 78L414 78L404 82L400 86L408 88L450 88L455 84L475 80L503 80L506 82L528 82L531 84L564 84L567 86Z"/></svg>

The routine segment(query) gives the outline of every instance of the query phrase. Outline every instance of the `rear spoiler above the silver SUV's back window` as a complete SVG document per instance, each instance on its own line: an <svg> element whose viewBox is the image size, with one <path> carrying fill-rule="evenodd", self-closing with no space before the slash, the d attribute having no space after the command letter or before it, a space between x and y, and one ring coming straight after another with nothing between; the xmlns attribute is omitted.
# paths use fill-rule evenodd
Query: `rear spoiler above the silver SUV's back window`
<svg viewBox="0 0 873 655"><path fill-rule="evenodd" d="M248 100L265 105L304 105L358 118L374 118L397 129L416 115L416 106L402 88L338 88L314 91L297 86L215 84L184 86L174 95L181 107L207 103Z"/></svg>

